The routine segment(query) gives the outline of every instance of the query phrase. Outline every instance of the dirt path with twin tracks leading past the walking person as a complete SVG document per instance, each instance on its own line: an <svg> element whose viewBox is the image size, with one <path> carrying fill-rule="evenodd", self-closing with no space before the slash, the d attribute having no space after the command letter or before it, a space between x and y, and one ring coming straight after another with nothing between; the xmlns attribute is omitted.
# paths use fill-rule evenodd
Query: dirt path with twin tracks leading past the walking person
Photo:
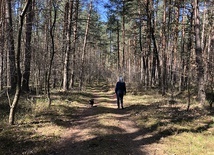
<svg viewBox="0 0 214 155"><path fill-rule="evenodd" d="M78 112L51 154L160 154L158 146L151 145L149 132L138 128L131 120L131 106L117 109L112 93L94 92L94 95L95 106L85 106Z"/></svg>

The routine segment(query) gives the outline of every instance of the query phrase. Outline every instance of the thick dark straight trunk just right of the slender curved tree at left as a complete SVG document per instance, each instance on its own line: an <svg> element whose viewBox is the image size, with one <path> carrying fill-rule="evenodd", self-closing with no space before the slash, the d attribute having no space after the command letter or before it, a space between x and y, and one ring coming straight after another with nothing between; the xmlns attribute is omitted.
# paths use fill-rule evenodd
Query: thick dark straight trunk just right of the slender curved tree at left
<svg viewBox="0 0 214 155"><path fill-rule="evenodd" d="M32 21L34 13L32 11L32 0L29 0L29 7L26 13L26 41L25 41L25 62L24 73L22 79L22 91L29 91L29 79L30 79L30 65L31 65L31 35L32 35Z"/></svg>

